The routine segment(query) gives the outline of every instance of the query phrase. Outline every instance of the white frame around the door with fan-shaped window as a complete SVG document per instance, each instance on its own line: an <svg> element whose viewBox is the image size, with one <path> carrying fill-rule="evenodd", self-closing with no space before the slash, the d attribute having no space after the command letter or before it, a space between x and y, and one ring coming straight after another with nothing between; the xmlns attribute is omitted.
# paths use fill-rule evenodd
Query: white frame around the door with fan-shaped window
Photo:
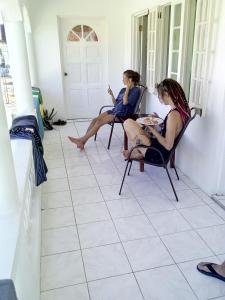
<svg viewBox="0 0 225 300"><path fill-rule="evenodd" d="M102 16L96 16L96 17L89 17L89 16L77 16L77 15L57 15L57 34L58 34L58 42L59 42L59 59L60 59L60 72L61 72L61 84L62 84L62 95L63 95L63 108L64 112L66 114L66 119L68 119L68 103L66 99L66 83L65 83L65 76L64 76L64 57L63 57L63 40L62 40L62 34L61 34L61 24L63 19L74 19L74 20L80 20L81 23L84 23L86 19L92 20L92 21L103 21L105 23L105 35L104 35L104 59L105 62L103 64L104 68L104 84L107 86L108 82L108 70L109 70L109 64L108 64L108 27L107 27L107 19L106 17ZM88 118L89 119L89 118Z"/></svg>

